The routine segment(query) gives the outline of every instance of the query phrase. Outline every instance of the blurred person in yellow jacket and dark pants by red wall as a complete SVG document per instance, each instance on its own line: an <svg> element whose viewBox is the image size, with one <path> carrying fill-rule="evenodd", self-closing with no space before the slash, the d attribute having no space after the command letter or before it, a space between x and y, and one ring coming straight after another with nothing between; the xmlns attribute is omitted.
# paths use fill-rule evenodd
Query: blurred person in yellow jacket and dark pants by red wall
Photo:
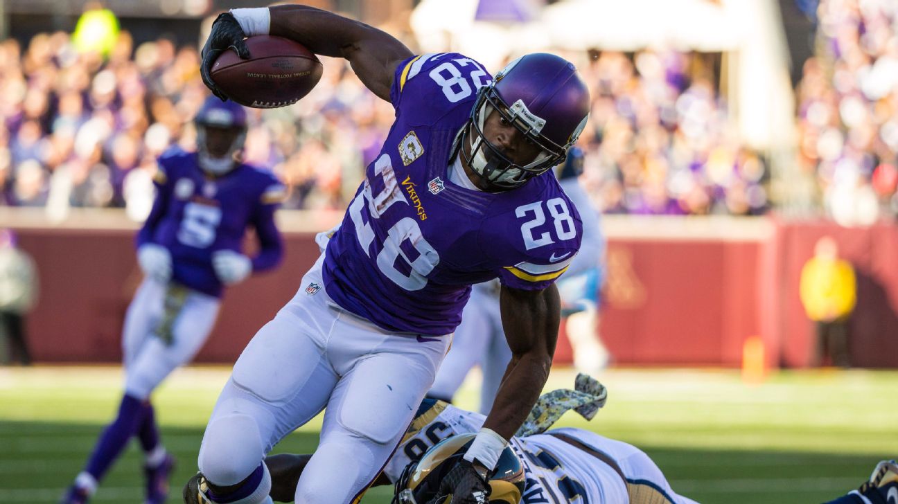
<svg viewBox="0 0 898 504"><path fill-rule="evenodd" d="M839 246L830 236L814 245L814 256L801 270L801 302L814 322L815 350L812 365L848 368L849 318L857 300L854 269L839 258Z"/></svg>

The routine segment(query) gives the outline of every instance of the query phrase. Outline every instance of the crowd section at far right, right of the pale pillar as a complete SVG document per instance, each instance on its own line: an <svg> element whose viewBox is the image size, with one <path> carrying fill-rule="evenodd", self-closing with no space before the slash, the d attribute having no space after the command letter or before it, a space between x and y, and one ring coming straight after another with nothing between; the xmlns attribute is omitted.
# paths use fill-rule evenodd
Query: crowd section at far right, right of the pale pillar
<svg viewBox="0 0 898 504"><path fill-rule="evenodd" d="M898 212L898 4L822 0L797 86L798 163L843 224Z"/></svg>

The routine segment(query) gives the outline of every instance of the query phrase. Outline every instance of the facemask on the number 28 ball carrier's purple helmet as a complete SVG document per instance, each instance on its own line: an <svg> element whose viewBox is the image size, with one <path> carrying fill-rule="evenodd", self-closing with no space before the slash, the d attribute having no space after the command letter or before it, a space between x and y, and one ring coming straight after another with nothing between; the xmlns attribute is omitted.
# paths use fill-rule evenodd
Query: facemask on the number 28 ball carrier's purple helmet
<svg viewBox="0 0 898 504"><path fill-rule="evenodd" d="M508 124L514 125L530 143L539 147L540 152L533 161L518 165L495 145L487 140L484 124L490 114L496 112ZM490 188L499 190L522 186L530 178L536 177L551 167L564 161L567 145L551 142L540 135L545 121L531 114L522 100L509 107L497 94L493 86L484 86L478 92L477 101L471 110L471 118L462 131L461 155L468 166ZM470 148L465 152L464 145Z"/></svg>

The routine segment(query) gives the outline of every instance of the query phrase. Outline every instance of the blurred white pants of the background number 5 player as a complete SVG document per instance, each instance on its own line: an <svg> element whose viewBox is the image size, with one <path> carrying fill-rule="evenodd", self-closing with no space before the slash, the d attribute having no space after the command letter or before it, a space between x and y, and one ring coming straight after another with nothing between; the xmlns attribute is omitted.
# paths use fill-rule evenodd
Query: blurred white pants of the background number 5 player
<svg viewBox="0 0 898 504"><path fill-rule="evenodd" d="M218 298L184 287L180 287L179 305L173 310L170 306L166 313L167 289L165 284L145 278L125 314L125 392L138 399L149 397L174 369L193 359L206 343L218 316ZM169 341L163 341L159 335L165 317L170 317Z"/></svg>

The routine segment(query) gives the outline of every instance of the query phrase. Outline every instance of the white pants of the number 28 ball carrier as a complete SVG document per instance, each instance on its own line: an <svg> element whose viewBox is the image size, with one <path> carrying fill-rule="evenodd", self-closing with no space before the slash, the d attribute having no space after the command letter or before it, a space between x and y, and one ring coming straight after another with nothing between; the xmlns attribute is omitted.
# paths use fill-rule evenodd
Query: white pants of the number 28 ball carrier
<svg viewBox="0 0 898 504"><path fill-rule="evenodd" d="M307 291L323 285L322 257L234 364L199 450L209 482L241 482L280 439L326 408L295 501L354 502L433 383L451 337L390 333L333 306L323 287Z"/></svg>

